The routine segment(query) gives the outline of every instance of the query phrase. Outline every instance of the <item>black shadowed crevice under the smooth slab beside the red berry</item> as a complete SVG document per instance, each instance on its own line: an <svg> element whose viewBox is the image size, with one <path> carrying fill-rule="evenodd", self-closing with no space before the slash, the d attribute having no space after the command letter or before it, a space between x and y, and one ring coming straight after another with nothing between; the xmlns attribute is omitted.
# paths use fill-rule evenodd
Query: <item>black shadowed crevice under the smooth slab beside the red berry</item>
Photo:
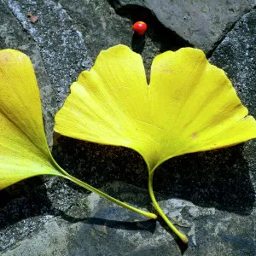
<svg viewBox="0 0 256 256"><path fill-rule="evenodd" d="M112 1L109 2L113 6ZM176 32L166 28L166 26L164 26L147 8L127 4L124 7L115 8L115 10L118 15L129 18L132 23L136 21L146 22L148 25L148 37L152 39L154 44L158 44L160 52L164 52L168 49L176 50L182 47L192 46L188 41L178 36ZM132 49L135 47L134 39L132 39L131 46Z"/></svg>

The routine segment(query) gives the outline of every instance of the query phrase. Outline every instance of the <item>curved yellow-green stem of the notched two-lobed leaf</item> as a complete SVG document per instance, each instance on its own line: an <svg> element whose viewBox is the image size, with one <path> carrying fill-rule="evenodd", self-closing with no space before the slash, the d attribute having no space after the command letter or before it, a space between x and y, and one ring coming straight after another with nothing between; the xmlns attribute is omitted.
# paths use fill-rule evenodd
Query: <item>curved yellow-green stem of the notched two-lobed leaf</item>
<svg viewBox="0 0 256 256"><path fill-rule="evenodd" d="M187 236L183 235L180 231L176 229L176 227L172 224L172 222L169 220L169 218L166 217L166 214L162 211L160 208L160 205L156 201L154 197L154 190L153 190L153 177L154 177L154 170L148 172L148 191L149 195L151 197L151 200L153 201L155 210L160 214L160 217L164 219L166 224L170 227L170 229L184 242L188 243L189 239Z"/></svg>

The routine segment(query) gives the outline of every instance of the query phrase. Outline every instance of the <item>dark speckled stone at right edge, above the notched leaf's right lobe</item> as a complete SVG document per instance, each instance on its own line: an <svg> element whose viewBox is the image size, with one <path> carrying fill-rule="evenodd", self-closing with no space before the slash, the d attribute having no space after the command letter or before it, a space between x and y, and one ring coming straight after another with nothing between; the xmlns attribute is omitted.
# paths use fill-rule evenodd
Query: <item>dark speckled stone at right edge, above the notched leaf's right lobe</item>
<svg viewBox="0 0 256 256"><path fill-rule="evenodd" d="M256 10L244 15L212 54L210 61L224 69L238 96L256 116Z"/></svg>

